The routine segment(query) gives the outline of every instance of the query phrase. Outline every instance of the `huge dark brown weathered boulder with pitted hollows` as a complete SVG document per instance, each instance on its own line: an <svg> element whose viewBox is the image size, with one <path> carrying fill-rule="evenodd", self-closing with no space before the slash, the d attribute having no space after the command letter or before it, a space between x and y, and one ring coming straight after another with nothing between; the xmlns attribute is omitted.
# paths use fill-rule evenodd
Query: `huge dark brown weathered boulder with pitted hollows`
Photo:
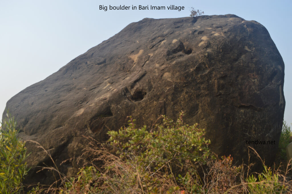
<svg viewBox="0 0 292 194"><path fill-rule="evenodd" d="M269 33L236 15L145 18L76 57L7 102L20 137L39 142L57 165L78 157L85 136L106 139L132 115L152 125L160 114L199 123L219 155L248 159L254 146L272 162L281 133L284 63ZM3 116L4 117L4 116ZM252 145L248 141L274 141ZM30 182L48 156L27 142ZM74 161L60 170L76 172Z"/></svg>

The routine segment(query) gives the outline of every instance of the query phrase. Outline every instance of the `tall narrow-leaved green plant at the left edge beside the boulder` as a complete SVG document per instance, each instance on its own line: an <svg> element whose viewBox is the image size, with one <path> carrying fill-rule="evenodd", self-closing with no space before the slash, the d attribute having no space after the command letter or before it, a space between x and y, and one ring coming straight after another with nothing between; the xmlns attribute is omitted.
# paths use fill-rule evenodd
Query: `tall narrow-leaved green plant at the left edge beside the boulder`
<svg viewBox="0 0 292 194"><path fill-rule="evenodd" d="M27 174L25 143L17 137L16 122L7 114L0 127L0 193L21 193L22 180Z"/></svg>

